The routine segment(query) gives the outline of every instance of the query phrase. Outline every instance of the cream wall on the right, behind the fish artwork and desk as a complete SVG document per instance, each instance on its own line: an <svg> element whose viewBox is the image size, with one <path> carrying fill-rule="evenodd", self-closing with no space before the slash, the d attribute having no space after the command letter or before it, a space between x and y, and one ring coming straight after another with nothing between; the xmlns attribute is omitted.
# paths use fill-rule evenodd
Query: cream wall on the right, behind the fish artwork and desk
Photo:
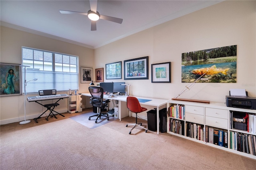
<svg viewBox="0 0 256 170"><path fill-rule="evenodd" d="M224 103L230 88L256 97L256 1L221 2L112 42L95 50L94 63L122 61L123 73L124 60L149 56L149 79L125 80L130 94L171 99L188 85L181 83L182 53L230 45L237 45L237 82L196 83L180 98ZM151 83L151 64L161 62L171 62L171 83Z"/></svg>

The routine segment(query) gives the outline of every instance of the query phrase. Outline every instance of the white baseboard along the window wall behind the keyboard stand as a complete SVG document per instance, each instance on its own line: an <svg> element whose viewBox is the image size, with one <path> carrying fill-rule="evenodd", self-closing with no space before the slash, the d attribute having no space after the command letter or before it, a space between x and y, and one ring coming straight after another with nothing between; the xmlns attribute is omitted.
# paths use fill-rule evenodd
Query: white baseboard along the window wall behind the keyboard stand
<svg viewBox="0 0 256 170"><path fill-rule="evenodd" d="M68 112L68 109L60 109L60 110L56 110L56 112L59 112L59 113L66 113ZM42 114L42 113L40 113ZM34 114L34 115L26 115L26 120L31 120L31 121L34 121L33 119L34 118L37 118L38 116L40 116L40 114ZM49 114L49 111L46 112L46 114L43 114L42 117L45 117L46 115L48 116ZM0 125L3 125L3 124L9 124L9 123L14 123L14 122L21 122L25 120L25 117L22 116L22 117L18 117L18 118L12 118L12 119L6 119L6 120L1 120L0 121Z"/></svg>

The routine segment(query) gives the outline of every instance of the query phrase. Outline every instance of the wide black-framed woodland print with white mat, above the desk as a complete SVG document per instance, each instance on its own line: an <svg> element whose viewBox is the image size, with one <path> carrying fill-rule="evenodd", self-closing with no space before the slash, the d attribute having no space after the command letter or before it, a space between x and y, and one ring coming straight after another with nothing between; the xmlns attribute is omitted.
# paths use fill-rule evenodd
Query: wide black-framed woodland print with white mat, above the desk
<svg viewBox="0 0 256 170"><path fill-rule="evenodd" d="M124 80L148 79L148 56L124 60Z"/></svg>

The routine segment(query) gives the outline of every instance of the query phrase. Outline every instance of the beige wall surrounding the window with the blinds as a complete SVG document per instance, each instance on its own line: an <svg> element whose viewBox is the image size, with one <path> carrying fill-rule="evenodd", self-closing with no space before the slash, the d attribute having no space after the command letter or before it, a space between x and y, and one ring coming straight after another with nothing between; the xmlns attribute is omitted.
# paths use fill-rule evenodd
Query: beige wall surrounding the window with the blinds
<svg viewBox="0 0 256 170"><path fill-rule="evenodd" d="M22 64L22 46L78 56L79 72L80 66L93 68L93 49L1 26L0 62ZM88 86L88 83L80 83L79 74L79 92L88 92ZM61 93L68 94L68 89L67 92ZM59 104L55 110L60 113L67 112L67 99L60 100ZM26 101L26 119L36 118L42 110L46 109L35 102ZM0 124L24 120L24 95L0 98L0 120Z"/></svg>

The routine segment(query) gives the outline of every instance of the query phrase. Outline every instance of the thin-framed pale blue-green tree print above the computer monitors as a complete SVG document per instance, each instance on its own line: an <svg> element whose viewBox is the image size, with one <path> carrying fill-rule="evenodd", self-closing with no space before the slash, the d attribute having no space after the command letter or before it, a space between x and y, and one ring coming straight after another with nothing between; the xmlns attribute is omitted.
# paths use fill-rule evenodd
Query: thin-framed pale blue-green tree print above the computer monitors
<svg viewBox="0 0 256 170"><path fill-rule="evenodd" d="M106 64L106 79L122 79L122 62Z"/></svg>

